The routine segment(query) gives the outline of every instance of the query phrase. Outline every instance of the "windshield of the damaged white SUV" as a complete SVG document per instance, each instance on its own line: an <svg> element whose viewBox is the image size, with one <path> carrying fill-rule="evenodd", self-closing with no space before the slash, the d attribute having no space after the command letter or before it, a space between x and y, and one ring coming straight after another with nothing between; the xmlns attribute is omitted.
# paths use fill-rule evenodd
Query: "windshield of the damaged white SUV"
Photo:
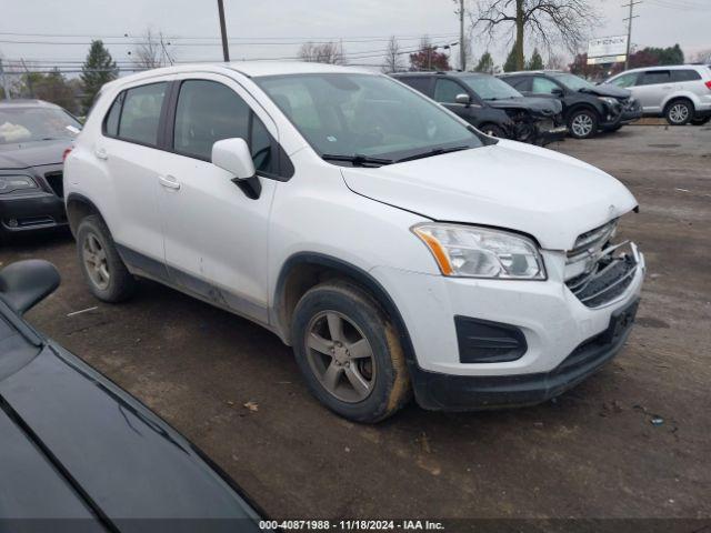
<svg viewBox="0 0 711 533"><path fill-rule="evenodd" d="M449 112L384 76L289 74L254 81L322 157L392 162L452 145L482 145Z"/></svg>

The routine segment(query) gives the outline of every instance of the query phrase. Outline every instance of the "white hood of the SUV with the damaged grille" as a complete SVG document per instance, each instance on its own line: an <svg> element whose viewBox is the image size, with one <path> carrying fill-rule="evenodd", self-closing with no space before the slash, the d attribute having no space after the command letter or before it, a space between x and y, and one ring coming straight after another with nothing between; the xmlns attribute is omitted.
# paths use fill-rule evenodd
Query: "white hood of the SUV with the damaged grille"
<svg viewBox="0 0 711 533"><path fill-rule="evenodd" d="M356 193L429 219L504 228L544 249L569 250L581 233L637 207L618 180L531 144L494 145L377 169L344 168Z"/></svg>

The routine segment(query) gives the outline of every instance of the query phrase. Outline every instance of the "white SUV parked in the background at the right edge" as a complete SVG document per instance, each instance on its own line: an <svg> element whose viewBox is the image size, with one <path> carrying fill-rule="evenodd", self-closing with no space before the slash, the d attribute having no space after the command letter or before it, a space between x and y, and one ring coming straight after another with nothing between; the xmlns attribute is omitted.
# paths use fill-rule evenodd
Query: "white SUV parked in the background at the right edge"
<svg viewBox="0 0 711 533"><path fill-rule="evenodd" d="M671 125L702 125L711 120L711 68L704 64L632 69L602 87L631 91L644 115L664 117Z"/></svg>

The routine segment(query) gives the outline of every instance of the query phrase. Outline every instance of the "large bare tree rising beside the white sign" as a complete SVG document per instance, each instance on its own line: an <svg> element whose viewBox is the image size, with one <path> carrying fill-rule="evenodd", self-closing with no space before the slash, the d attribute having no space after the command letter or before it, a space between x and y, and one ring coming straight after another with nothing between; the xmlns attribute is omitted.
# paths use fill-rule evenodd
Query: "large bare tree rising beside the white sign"
<svg viewBox="0 0 711 533"><path fill-rule="evenodd" d="M508 27L513 37L517 69L521 70L527 37L548 51L560 42L575 53L600 19L588 0L479 0L479 11L471 22L472 27L482 28L489 40L500 28Z"/></svg>

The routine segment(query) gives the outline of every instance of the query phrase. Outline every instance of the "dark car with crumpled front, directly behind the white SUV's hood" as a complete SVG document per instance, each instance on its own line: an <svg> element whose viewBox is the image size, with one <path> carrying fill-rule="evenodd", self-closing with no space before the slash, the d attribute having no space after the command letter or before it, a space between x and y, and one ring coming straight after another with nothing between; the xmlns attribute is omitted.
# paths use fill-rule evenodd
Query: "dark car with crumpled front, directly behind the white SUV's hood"
<svg viewBox="0 0 711 533"><path fill-rule="evenodd" d="M403 72L390 76L489 135L541 145L565 137L560 102L548 98L527 98L493 76L477 72ZM504 111L505 118L499 111Z"/></svg>

